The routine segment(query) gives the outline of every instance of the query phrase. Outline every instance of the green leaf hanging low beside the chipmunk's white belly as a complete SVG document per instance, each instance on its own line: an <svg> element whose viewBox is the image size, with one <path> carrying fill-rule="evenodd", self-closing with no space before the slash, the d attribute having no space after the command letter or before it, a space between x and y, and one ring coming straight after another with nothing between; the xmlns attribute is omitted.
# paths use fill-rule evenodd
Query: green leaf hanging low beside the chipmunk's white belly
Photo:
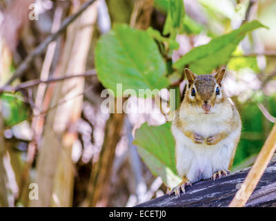
<svg viewBox="0 0 276 221"><path fill-rule="evenodd" d="M152 171L161 176L164 184L174 187L181 178L175 168L175 140L170 133L170 122L161 126L143 124L135 133L133 144L138 153Z"/></svg>

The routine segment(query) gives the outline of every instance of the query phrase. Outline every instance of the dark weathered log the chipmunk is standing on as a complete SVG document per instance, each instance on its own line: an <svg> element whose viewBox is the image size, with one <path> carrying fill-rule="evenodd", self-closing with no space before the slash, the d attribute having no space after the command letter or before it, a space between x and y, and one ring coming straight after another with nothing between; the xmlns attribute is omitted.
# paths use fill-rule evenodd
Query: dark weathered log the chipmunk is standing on
<svg viewBox="0 0 276 221"><path fill-rule="evenodd" d="M193 186L187 186L186 193L182 193L179 198L166 194L137 206L228 206L249 170L250 168L243 169L215 181L202 180ZM246 206L276 206L276 155L273 156Z"/></svg>

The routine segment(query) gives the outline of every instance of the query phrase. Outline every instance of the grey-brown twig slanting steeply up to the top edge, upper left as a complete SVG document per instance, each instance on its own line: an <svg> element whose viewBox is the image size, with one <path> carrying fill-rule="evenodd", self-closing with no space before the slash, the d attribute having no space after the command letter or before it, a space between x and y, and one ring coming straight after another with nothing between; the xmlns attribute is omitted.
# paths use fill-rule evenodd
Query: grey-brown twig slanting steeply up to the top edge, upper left
<svg viewBox="0 0 276 221"><path fill-rule="evenodd" d="M41 44L39 44L39 46L37 46L37 48L35 48L30 53L30 55L28 55L28 57L26 57L26 59L24 59L21 62L21 64L19 64L17 70L14 71L12 77L7 81L5 86L8 86L9 84L11 84L12 81L14 81L14 79L21 77L21 75L23 75L23 73L25 73L27 68L30 66L34 58L37 57L38 55L41 55L41 53L46 49L48 44L50 44L52 41L55 41L57 37L59 37L59 35L66 30L67 26L70 23L72 23L72 21L75 21L75 19L77 19L77 17L79 17L79 15L81 15L81 13L84 12L88 8L88 6L90 6L95 1L96 0L90 0L90 1L87 1L86 3L83 3L81 8L79 9L78 12L75 13L75 15L71 15L66 19L64 19L63 22L61 23L61 27L59 28L59 30L53 33L52 35L50 35L49 37L47 37Z"/></svg>

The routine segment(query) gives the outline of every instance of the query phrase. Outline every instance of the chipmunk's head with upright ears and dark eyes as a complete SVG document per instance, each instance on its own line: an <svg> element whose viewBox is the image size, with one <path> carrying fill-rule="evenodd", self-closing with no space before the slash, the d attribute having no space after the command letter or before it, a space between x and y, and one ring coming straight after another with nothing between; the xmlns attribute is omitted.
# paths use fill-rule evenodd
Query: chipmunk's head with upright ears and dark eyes
<svg viewBox="0 0 276 221"><path fill-rule="evenodd" d="M213 75L195 75L188 68L184 72L187 79L183 101L185 108L193 113L206 115L219 112L226 99L221 88L225 69Z"/></svg>

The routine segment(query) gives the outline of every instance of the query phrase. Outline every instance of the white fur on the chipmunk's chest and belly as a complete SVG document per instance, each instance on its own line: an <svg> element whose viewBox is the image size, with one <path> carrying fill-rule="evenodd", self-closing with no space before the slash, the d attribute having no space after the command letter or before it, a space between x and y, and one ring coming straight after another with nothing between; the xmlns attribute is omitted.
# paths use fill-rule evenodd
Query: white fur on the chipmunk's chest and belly
<svg viewBox="0 0 276 221"><path fill-rule="evenodd" d="M187 130L197 128L197 133L204 137L224 131L216 122L201 121L200 118L189 127ZM177 172L185 175L190 182L197 182L210 178L219 170L228 169L239 131L233 131L215 145L193 143L175 124L172 124L172 134L176 140Z"/></svg>

